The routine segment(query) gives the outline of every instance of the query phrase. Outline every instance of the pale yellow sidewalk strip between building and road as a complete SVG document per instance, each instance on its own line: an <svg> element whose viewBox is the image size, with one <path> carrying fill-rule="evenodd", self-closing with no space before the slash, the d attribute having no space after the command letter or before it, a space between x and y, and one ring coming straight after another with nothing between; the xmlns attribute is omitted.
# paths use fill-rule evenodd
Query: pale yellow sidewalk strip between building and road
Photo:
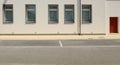
<svg viewBox="0 0 120 65"><path fill-rule="evenodd" d="M109 35L0 35L0 40L79 40L120 39L120 34Z"/></svg>

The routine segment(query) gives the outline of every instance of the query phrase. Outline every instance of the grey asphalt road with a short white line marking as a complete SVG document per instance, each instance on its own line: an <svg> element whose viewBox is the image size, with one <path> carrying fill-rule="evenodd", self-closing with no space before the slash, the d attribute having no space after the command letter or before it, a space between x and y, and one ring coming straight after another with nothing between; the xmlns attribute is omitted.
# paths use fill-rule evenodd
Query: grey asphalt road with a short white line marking
<svg viewBox="0 0 120 65"><path fill-rule="evenodd" d="M120 65L120 40L0 40L0 65Z"/></svg>

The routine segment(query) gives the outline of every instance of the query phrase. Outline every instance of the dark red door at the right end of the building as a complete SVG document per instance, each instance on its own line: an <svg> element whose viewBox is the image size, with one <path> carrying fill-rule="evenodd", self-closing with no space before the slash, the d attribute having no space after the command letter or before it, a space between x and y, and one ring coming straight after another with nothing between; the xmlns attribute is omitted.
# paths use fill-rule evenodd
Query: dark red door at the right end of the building
<svg viewBox="0 0 120 65"><path fill-rule="evenodd" d="M118 17L110 17L110 33L118 33Z"/></svg>

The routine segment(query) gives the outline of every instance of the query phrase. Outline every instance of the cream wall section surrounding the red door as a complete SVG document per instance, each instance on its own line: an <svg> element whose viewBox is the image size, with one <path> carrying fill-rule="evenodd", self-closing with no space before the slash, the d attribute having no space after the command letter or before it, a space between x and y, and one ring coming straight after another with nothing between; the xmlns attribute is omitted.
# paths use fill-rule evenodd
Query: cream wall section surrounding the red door
<svg viewBox="0 0 120 65"><path fill-rule="evenodd" d="M120 0L107 0L106 2L107 34L110 33L110 17L118 17L118 32L120 33Z"/></svg>

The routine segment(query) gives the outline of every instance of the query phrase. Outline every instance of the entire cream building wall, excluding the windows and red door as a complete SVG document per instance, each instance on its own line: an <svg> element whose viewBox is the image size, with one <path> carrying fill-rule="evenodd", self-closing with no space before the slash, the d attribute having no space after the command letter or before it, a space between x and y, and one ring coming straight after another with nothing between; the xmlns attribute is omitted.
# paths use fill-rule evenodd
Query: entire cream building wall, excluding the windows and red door
<svg viewBox="0 0 120 65"><path fill-rule="evenodd" d="M13 24L3 24L3 4L0 0L0 34L109 34L109 17L119 17L119 0L6 0L13 4ZM25 5L36 5L36 24L25 24ZM59 6L59 23L48 24L48 5ZM64 5L74 4L74 24L64 24ZM92 5L92 23L82 23L82 4Z"/></svg>

